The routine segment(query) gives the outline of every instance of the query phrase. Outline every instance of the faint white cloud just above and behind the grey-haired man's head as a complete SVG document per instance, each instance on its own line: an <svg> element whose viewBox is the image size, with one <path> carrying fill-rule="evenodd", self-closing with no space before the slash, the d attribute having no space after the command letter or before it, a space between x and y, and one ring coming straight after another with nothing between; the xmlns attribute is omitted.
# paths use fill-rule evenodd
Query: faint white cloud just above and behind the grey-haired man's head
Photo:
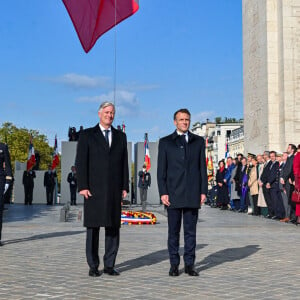
<svg viewBox="0 0 300 300"><path fill-rule="evenodd" d="M78 103L100 103L104 101L114 102L114 92L102 94L100 96L84 96L76 100ZM129 91L117 91L116 92L116 112L118 117L137 115L139 111L139 101L135 93Z"/></svg>

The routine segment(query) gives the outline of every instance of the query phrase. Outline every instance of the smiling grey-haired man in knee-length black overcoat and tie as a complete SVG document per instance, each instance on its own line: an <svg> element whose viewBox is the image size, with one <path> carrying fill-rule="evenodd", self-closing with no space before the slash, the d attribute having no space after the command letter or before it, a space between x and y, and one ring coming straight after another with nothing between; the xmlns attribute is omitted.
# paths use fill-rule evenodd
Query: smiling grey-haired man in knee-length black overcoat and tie
<svg viewBox="0 0 300 300"><path fill-rule="evenodd" d="M121 202L129 191L127 139L112 126L115 106L100 105L100 123L79 137L76 155L78 191L84 196L84 226L89 275L100 276L99 229L105 227L104 273L119 275L114 268L119 249Z"/></svg>

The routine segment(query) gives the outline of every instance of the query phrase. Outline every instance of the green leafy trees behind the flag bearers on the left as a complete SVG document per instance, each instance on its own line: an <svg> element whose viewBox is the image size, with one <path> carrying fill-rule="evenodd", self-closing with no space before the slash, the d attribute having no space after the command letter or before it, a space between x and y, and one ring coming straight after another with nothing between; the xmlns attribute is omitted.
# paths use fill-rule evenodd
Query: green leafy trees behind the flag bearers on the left
<svg viewBox="0 0 300 300"><path fill-rule="evenodd" d="M52 164L54 149L49 146L45 135L40 134L37 130L17 128L14 124L6 122L2 124L2 127L0 127L0 141L8 145L13 170L15 168L16 161L27 161L31 136L35 153L39 153L40 155L39 169L47 170L48 165ZM57 167L56 172L58 182L60 182L60 164Z"/></svg>

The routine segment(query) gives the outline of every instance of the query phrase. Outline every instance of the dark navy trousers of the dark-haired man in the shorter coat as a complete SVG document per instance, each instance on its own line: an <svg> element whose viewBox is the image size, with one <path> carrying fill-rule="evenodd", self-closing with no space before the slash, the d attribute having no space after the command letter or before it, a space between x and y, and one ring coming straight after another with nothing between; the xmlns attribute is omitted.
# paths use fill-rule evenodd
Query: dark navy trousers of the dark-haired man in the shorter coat
<svg viewBox="0 0 300 300"><path fill-rule="evenodd" d="M168 208L168 250L170 264L178 266L180 263L179 240L182 217L184 233L183 260L186 266L193 266L196 258L198 208Z"/></svg>

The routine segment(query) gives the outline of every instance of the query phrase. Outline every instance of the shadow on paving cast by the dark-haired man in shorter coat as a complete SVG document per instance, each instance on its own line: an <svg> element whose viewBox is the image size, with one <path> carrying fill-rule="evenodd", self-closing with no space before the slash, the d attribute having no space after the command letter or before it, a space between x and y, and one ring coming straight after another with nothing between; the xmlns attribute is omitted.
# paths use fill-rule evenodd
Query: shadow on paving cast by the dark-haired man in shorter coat
<svg viewBox="0 0 300 300"><path fill-rule="evenodd" d="M259 245L248 245L241 248L228 248L216 253L213 253L201 262L195 264L195 268L198 272L213 268L215 266L221 265L225 262L231 262L235 260L244 259L250 255L253 255L259 251Z"/></svg>

